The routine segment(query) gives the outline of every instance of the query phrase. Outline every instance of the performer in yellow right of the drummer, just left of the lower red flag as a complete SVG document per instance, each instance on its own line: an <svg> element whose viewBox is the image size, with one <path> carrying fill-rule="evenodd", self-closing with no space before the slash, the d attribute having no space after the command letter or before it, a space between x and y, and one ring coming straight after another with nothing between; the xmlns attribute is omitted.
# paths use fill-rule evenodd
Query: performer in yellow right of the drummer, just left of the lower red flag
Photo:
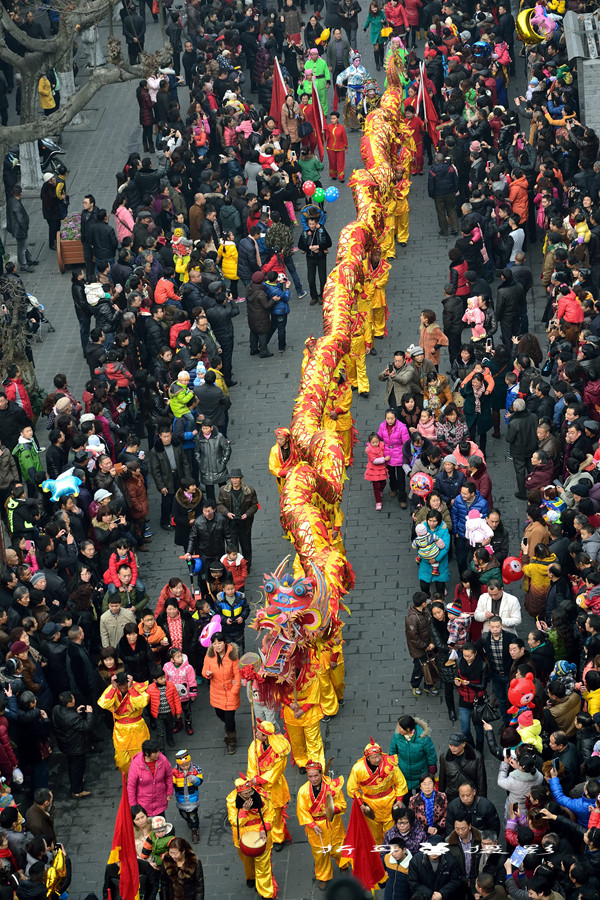
<svg viewBox="0 0 600 900"><path fill-rule="evenodd" d="M349 860L340 859L346 837L341 816L346 809L344 777L328 778L321 763L312 759L306 763L306 777L308 781L298 791L296 815L300 825L304 825L310 844L317 885L324 891L333 878L332 859L340 869L346 869L349 864Z"/></svg>

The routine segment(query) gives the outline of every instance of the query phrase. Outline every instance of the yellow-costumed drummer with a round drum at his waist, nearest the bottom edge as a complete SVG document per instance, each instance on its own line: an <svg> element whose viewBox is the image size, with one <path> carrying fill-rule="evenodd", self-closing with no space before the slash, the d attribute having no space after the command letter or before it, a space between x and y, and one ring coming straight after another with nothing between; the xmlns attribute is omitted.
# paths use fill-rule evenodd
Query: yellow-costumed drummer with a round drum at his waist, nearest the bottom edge
<svg viewBox="0 0 600 900"><path fill-rule="evenodd" d="M244 864L246 886L256 888L259 897L275 897L277 883L271 864L273 807L264 778L236 778L235 790L227 795L227 815L233 843ZM257 855L248 855L249 852Z"/></svg>

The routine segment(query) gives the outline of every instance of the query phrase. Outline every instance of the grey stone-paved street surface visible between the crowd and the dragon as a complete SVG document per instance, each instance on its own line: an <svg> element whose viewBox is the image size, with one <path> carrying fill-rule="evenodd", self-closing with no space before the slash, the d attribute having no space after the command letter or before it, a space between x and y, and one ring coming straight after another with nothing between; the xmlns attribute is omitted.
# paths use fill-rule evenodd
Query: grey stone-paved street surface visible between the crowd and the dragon
<svg viewBox="0 0 600 900"><path fill-rule="evenodd" d="M158 29L149 26L151 38L159 40ZM361 34L362 39L362 34ZM365 65L372 67L369 48L365 48ZM183 91L181 92L183 100ZM110 207L115 194L115 172L122 167L132 150L140 150L140 128L134 84L104 88L86 111L88 124L83 129L66 129L63 144L70 169L69 193L71 209L81 209L83 195L93 192L97 203ZM358 135L350 135L350 167L359 166ZM377 342L377 356L367 358L371 380L368 400L355 397L353 413L360 433L356 448L356 464L344 494L346 517L344 538L349 559L356 571L356 588L347 598L351 616L344 629L346 640L346 705L338 716L323 726L326 757L334 757L333 770L346 777L355 760L362 755L369 735L387 748L396 719L405 713L424 717L431 725L439 749L445 748L452 728L441 697L412 696L409 687L411 662L404 639L404 617L414 590L418 589L417 566L409 545L408 511L384 495L383 509L376 512L371 486L363 479L366 435L376 430L383 419L385 395L377 374L391 359L397 347L407 347L418 340L420 309L432 307L441 319L442 286L447 279L449 240L437 236L437 221L432 201L427 198L426 176L415 177L410 195L411 234L408 247L398 248L393 264L387 296L390 309L389 335ZM329 181L324 179L324 186ZM69 381L81 391L87 368L81 357L77 320L73 312L70 277L60 275L55 254L46 245L45 223L40 215L38 198L27 200L32 228L32 253L41 265L26 275L26 285L46 306L56 333L44 335L44 342L34 347L36 368L44 389L52 385L52 377L65 372ZM327 228L334 242L340 229L354 218L350 191L344 187L340 200L329 207ZM14 247L8 244L9 251ZM333 256L333 253L332 253ZM303 283L305 265L296 257ZM258 603L260 575L271 571L290 552L281 538L278 523L277 491L267 469L267 454L274 437L273 429L287 424L296 396L300 360L304 340L311 333L321 333L321 309L310 307L308 297L292 299L288 322L288 349L269 360L250 359L245 311L236 320L235 378L232 389L229 435L233 442L231 465L242 466L248 483L258 491L261 511L254 528L254 571L248 579L248 598ZM541 292L537 308L530 318L539 319L543 309ZM533 313L533 310L532 310ZM442 360L442 369L447 357ZM502 510L514 536L511 549L518 550L523 508L517 508L513 497L514 478L506 461L503 441L490 440L488 467L494 482L495 503ZM158 527L156 494L151 495L151 518L155 525L153 552L145 556L142 568L155 599L166 580L175 574L186 575L170 543ZM456 572L453 581L456 583ZM249 647L254 632L248 634ZM195 735L186 740L177 736L178 748L188 746L193 760L204 772L201 806L201 841L197 851L205 868L207 898L233 900L250 896L244 885L243 869L232 845L226 823L225 796L232 788L240 769L245 770L246 750L251 740L250 712L245 702L238 714L239 749L227 756L222 726L208 703L208 691L201 688L194 711ZM114 816L119 802L120 776L112 760L108 735L102 754L90 756L87 783L93 796L85 801L72 801L68 795L64 760L52 759L52 787L55 788L56 831L73 858L71 896L79 900L89 891L100 894L106 859L110 850ZM169 754L171 757L173 751ZM489 756L486 759L490 759ZM488 780L495 785L497 763L491 760ZM296 769L288 769L292 797L302 783ZM502 802L500 791L493 787L492 798ZM168 810L177 833L189 836L173 804ZM285 900L308 900L319 895L313 881L313 866L304 832L299 828L294 806L290 808L290 830L293 844L274 854L274 871L280 885L279 896Z"/></svg>

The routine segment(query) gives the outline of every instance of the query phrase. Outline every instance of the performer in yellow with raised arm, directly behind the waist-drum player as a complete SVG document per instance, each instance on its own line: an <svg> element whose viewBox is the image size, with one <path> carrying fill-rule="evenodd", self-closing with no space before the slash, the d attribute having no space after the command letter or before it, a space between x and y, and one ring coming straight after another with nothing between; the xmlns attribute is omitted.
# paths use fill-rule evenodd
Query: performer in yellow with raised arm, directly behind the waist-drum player
<svg viewBox="0 0 600 900"><path fill-rule="evenodd" d="M256 738L248 748L248 778L260 776L267 782L269 800L273 807L273 849L283 850L292 837L286 824L286 807L290 802L290 789L285 779L285 767L290 755L290 742L275 734L271 722L256 720Z"/></svg>

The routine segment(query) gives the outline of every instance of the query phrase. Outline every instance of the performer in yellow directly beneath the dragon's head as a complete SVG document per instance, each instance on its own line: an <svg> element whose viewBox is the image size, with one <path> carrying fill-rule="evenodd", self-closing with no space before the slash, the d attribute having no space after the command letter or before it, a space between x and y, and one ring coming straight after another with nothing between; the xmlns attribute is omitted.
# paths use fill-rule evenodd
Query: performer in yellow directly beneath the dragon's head
<svg viewBox="0 0 600 900"><path fill-rule="evenodd" d="M325 767L325 751L320 721L323 718L319 674L313 669L305 677L298 677L295 697L284 700L283 721L296 765L304 772L309 759L318 760Z"/></svg>

